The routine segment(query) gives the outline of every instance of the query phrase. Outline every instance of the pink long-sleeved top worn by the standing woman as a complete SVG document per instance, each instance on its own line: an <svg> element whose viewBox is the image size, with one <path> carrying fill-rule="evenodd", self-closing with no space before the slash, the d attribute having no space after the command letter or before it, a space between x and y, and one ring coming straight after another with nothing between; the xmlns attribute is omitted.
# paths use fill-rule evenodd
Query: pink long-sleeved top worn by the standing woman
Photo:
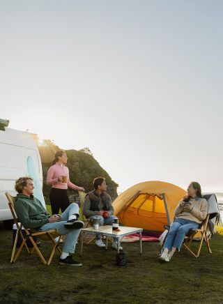
<svg viewBox="0 0 223 304"><path fill-rule="evenodd" d="M62 181L58 181L59 176L67 176L68 183L63 183ZM65 165L60 165L56 163L51 166L47 172L47 185L52 185L52 188L57 189L68 189L68 186L73 190L80 190L80 187L71 183L69 178L69 169Z"/></svg>

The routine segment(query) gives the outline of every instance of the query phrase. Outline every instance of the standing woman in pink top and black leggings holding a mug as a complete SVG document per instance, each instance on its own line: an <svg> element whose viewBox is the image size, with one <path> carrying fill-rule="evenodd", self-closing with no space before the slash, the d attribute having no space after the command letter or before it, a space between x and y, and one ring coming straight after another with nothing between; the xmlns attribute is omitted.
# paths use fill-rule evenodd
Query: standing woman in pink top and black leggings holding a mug
<svg viewBox="0 0 223 304"><path fill-rule="evenodd" d="M78 187L70 182L69 169L66 167L67 162L68 156L66 155L66 152L59 150L55 153L52 166L49 167L47 172L47 185L52 185L52 189L49 193L52 214L58 214L60 208L63 213L70 205L68 186L73 190L84 191L83 187Z"/></svg>

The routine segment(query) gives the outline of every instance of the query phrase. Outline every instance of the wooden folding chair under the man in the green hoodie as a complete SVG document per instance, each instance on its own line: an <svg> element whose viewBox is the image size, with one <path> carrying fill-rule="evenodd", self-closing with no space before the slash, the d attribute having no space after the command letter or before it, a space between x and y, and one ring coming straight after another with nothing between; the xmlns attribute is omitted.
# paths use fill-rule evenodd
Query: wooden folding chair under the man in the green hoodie
<svg viewBox="0 0 223 304"><path fill-rule="evenodd" d="M21 251L23 248L26 248L27 252L29 254L33 254L33 252L36 250L36 252L38 253L41 261L43 261L43 264L45 265L49 265L52 261L52 258L54 256L54 253L57 251L59 254L61 254L61 249L59 248L59 244L61 241L61 235L56 231L56 229L50 229L48 231L32 231L31 229L26 229L24 227L23 231L24 231L24 235L22 234L22 223L20 223L18 221L17 215L15 213L15 209L14 209L14 203L15 203L15 199L16 197L11 196L8 192L6 192L6 197L8 199L8 206L10 208L10 211L13 215L13 219L15 222L15 225L17 227L17 232L15 235L15 241L13 244L13 252L11 255L11 259L10 259L10 263L15 263L15 261L17 260L17 258L19 257ZM19 236L22 239L22 243L20 245L20 248L18 248L17 252L16 252L16 245L17 245L17 240L19 238ZM40 251L40 249L38 248L38 241L34 241L33 240L33 236L36 236L38 238L40 238L40 240L43 241L51 241L53 243L53 248L52 248L52 252L49 256L48 261L45 260L45 257L43 257L42 252ZM54 238L59 236L59 240L56 242ZM26 241L29 239L29 241L31 241L33 248L30 250L26 244Z"/></svg>

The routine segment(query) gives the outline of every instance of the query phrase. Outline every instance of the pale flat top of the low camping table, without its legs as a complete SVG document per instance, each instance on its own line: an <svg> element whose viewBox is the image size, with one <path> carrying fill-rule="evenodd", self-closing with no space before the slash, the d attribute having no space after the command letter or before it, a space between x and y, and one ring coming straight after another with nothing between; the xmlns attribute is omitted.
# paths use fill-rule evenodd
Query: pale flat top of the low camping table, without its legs
<svg viewBox="0 0 223 304"><path fill-rule="evenodd" d="M93 229L93 227L89 228L83 228L83 232L91 232L94 234L103 234L104 236L128 236L128 234L134 234L137 232L141 232L142 228L137 227L125 227L125 226L119 226L119 229L121 231L112 230L112 225L106 225L106 226L100 226L98 229Z"/></svg>

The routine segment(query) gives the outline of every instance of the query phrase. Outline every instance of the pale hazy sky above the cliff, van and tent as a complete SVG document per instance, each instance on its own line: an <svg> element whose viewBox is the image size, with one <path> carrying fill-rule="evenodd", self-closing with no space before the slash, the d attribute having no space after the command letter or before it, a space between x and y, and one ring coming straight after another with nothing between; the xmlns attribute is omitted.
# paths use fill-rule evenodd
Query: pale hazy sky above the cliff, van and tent
<svg viewBox="0 0 223 304"><path fill-rule="evenodd" d="M221 0L0 0L0 117L89 146L119 191L196 180L223 192L222 11Z"/></svg>

